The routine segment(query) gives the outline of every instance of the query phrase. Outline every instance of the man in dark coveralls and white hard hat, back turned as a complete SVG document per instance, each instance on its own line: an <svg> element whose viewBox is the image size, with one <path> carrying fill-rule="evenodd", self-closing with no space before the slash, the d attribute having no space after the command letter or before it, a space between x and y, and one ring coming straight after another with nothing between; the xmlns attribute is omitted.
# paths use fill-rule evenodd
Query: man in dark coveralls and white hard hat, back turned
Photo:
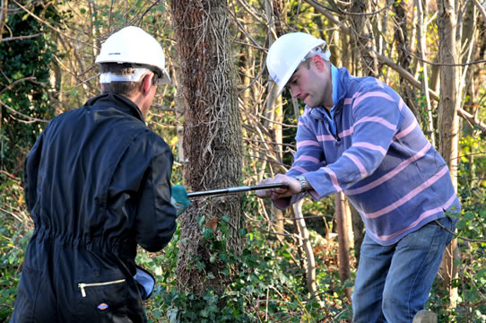
<svg viewBox="0 0 486 323"><path fill-rule="evenodd" d="M184 188L174 201L168 144L144 122L169 80L161 45L126 27L96 63L102 94L54 118L25 162L35 230L12 322L145 322L154 281L137 244L165 247L188 205Z"/></svg>

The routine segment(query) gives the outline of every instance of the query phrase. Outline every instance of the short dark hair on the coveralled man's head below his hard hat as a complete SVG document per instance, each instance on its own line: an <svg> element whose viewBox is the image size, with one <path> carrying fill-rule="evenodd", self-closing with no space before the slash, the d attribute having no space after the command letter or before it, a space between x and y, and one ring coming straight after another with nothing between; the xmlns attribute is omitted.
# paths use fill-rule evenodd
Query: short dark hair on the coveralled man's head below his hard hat
<svg viewBox="0 0 486 323"><path fill-rule="evenodd" d="M129 75L135 73L135 68L140 66L134 66L130 63L101 63L100 72L113 73L119 75ZM117 93L126 96L134 95L142 86L143 78L137 82L117 81L110 83L102 83L101 92L104 93ZM152 85L157 84L158 74L154 73L152 78Z"/></svg>

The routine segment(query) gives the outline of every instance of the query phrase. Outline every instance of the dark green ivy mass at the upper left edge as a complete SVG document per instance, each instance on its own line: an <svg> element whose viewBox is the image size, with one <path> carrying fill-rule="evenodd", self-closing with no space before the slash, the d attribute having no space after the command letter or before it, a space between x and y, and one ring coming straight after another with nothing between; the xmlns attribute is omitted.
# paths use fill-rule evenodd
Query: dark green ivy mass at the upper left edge
<svg viewBox="0 0 486 323"><path fill-rule="evenodd" d="M52 1L30 3L28 7L32 13L52 23L61 20ZM11 108L0 107L3 110L0 113L3 115L0 123L1 168L18 173L26 150L41 131L41 125L32 123L30 118L48 120L54 116L48 93L49 65L56 51L56 42L41 22L21 10L13 10L7 23L13 37L38 34L31 39L0 42L0 100Z"/></svg>

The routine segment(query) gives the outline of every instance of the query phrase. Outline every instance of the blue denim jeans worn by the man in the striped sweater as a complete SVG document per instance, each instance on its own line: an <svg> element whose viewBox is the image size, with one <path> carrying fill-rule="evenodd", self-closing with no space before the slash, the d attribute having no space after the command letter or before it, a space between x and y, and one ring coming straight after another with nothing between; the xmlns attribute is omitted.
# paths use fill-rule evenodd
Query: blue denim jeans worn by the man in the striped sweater
<svg viewBox="0 0 486 323"><path fill-rule="evenodd" d="M448 216L438 223L450 231L456 228L456 220ZM352 321L412 322L429 298L442 254L452 237L435 221L391 246L379 245L365 234L352 293Z"/></svg>

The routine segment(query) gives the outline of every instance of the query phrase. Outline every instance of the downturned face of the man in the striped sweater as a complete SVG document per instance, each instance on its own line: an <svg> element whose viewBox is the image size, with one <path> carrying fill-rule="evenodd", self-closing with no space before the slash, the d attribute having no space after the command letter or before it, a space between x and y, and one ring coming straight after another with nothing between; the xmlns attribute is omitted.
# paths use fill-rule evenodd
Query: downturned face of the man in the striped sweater
<svg viewBox="0 0 486 323"><path fill-rule="evenodd" d="M325 88L331 86L330 80L325 77L324 61L322 58L320 64L315 61L312 57L300 64L286 85L291 90L292 98L303 100L309 108L324 106Z"/></svg>

